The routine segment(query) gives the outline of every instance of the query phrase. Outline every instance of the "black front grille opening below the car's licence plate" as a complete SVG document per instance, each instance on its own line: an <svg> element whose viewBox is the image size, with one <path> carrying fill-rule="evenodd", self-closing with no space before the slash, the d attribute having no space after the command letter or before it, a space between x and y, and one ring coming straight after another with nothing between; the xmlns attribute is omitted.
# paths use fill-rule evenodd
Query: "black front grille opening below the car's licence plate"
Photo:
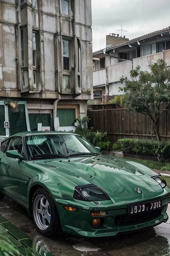
<svg viewBox="0 0 170 256"><path fill-rule="evenodd" d="M145 221L154 220L161 215L161 210L146 212L138 215L119 215L114 219L116 226L121 226L124 224L140 224Z"/></svg>

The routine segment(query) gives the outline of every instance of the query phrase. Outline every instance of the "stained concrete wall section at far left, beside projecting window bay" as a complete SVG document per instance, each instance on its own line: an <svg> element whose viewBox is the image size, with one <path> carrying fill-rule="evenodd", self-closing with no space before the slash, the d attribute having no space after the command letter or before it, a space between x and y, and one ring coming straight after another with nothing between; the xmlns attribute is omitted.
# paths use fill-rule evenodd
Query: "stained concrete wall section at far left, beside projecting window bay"
<svg viewBox="0 0 170 256"><path fill-rule="evenodd" d="M15 0L0 1L0 93L17 89Z"/></svg>

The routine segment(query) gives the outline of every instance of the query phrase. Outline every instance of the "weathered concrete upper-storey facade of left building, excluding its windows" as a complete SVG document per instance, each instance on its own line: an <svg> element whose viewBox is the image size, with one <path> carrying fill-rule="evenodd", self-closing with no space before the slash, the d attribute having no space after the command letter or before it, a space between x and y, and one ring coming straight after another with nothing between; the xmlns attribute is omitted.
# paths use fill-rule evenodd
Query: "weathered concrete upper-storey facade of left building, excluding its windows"
<svg viewBox="0 0 170 256"><path fill-rule="evenodd" d="M17 10L17 1L0 0L0 96L4 96L4 89L21 89L21 92L26 93L24 97L29 96L30 91L32 95L37 93L39 97L42 96L41 92L55 93L56 98L57 93L65 93L62 79L63 36L71 41L69 73L71 91L67 92L67 98L75 94L80 99L91 99L90 94L93 95L91 0L70 0L69 16L61 14L60 0L39 0L35 8L32 8L31 2L27 0L27 5ZM28 65L22 68L20 31L17 22L19 26L26 26L28 37L28 39L24 37L28 46ZM33 85L33 30L39 33L36 88ZM80 39L81 45L81 88L78 87L77 80L76 38ZM24 85L21 69L25 77ZM20 91L17 92L17 96L21 96ZM75 96L72 98L74 99Z"/></svg>

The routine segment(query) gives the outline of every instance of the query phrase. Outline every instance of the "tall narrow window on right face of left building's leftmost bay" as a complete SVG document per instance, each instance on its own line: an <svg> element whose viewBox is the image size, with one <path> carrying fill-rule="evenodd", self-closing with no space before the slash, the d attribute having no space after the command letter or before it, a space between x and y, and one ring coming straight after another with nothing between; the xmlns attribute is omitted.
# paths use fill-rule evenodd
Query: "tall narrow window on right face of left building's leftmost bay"
<svg viewBox="0 0 170 256"><path fill-rule="evenodd" d="M37 88L37 32L33 31L33 87Z"/></svg>

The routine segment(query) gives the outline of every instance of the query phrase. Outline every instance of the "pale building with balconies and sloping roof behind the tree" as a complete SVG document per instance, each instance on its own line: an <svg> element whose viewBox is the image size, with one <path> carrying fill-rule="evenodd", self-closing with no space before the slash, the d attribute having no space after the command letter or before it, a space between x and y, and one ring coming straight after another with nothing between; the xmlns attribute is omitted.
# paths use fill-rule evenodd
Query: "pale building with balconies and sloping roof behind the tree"
<svg viewBox="0 0 170 256"><path fill-rule="evenodd" d="M93 53L95 103L107 103L114 95L123 94L119 91L119 87L124 86L120 77L129 77L130 71L137 65L143 71L149 71L150 64L164 59L167 66L170 66L170 27L132 40L123 37L121 40L124 42L121 43L117 43L120 40L118 35L110 37L113 37L113 44L107 41L105 49Z"/></svg>

